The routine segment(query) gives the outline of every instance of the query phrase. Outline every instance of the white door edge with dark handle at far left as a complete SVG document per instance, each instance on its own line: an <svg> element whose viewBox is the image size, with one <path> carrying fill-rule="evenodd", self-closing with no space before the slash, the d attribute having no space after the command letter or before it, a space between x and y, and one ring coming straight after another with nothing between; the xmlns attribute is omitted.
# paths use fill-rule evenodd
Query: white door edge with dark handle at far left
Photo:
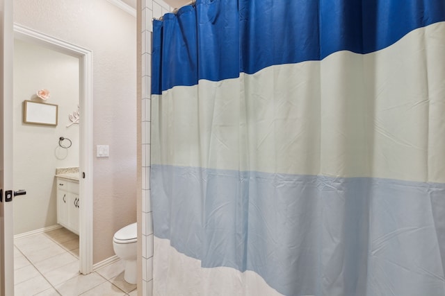
<svg viewBox="0 0 445 296"><path fill-rule="evenodd" d="M14 295L13 0L0 0L0 295Z"/></svg>

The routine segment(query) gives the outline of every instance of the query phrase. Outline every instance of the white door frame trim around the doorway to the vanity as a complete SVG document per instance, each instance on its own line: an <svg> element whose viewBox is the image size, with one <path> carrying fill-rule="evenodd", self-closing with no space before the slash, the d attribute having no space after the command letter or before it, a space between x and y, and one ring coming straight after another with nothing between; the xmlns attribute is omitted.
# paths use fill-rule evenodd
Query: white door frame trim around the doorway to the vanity
<svg viewBox="0 0 445 296"><path fill-rule="evenodd" d="M82 204L79 208L79 270L83 275L92 272L92 51L69 42L14 24L14 36L19 40L40 44L54 51L72 55L80 60L79 105L81 120L79 121L79 195Z"/></svg>

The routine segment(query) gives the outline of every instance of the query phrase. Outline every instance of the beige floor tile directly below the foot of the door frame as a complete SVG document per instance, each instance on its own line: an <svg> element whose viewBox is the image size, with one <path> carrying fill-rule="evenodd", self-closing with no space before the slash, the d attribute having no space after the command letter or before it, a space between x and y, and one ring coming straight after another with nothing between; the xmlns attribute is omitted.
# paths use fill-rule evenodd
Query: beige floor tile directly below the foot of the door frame
<svg viewBox="0 0 445 296"><path fill-rule="evenodd" d="M63 284L56 286L56 290L63 296L78 296L104 283L106 279L92 272L89 275L78 275Z"/></svg>

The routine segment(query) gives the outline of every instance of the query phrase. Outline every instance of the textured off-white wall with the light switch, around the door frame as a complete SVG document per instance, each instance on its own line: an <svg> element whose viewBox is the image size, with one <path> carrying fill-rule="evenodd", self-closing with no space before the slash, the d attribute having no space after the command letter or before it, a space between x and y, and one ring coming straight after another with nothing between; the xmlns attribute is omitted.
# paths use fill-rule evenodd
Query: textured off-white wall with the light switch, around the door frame
<svg viewBox="0 0 445 296"><path fill-rule="evenodd" d="M14 21L92 50L93 262L114 255L113 234L136 222L136 17L106 0L14 0Z"/></svg>

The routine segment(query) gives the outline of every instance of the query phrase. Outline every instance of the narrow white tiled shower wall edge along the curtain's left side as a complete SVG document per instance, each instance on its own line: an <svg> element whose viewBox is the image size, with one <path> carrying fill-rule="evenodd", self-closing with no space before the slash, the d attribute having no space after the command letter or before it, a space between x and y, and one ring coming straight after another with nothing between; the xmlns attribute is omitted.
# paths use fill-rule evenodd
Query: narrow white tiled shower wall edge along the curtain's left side
<svg viewBox="0 0 445 296"><path fill-rule="evenodd" d="M150 130L152 76L152 19L173 10L161 0L142 0L142 295L153 295L153 226L150 206Z"/></svg>

